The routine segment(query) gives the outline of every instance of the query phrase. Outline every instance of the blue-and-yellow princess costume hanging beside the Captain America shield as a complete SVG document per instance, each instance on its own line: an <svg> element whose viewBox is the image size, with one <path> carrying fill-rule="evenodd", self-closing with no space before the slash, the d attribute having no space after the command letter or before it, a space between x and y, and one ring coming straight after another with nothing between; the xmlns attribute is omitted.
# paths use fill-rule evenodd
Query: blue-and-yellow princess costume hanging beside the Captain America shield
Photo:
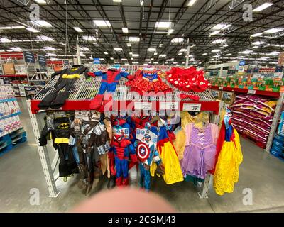
<svg viewBox="0 0 284 227"><path fill-rule="evenodd" d="M163 166L165 168L165 174L163 179L166 184L174 184L176 182L182 182L183 176L180 169L180 163L178 161L178 155L173 148L173 143L168 136L168 131L166 126L151 126L151 132L158 135L157 150L163 161ZM150 171L151 175L155 175L155 170L157 169L156 163L151 165ZM159 174L157 174L159 176Z"/></svg>

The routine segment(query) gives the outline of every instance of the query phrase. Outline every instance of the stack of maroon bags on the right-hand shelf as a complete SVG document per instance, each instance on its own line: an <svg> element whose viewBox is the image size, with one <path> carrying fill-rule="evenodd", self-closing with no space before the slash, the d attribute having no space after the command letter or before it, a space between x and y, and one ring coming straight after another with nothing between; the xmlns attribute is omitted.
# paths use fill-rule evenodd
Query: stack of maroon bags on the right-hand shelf
<svg viewBox="0 0 284 227"><path fill-rule="evenodd" d="M236 95L236 100L231 105L231 121L241 135L265 148L276 104L275 100L257 95Z"/></svg>

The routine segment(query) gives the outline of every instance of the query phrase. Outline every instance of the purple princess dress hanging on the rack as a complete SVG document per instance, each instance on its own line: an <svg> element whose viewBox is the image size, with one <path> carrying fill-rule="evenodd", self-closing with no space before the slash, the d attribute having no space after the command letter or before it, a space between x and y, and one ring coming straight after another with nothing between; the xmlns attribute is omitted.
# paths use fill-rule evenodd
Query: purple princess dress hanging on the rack
<svg viewBox="0 0 284 227"><path fill-rule="evenodd" d="M185 152L180 161L182 175L204 179L207 172L214 169L219 128L213 123L204 128L197 128L194 123L189 123L185 133Z"/></svg>

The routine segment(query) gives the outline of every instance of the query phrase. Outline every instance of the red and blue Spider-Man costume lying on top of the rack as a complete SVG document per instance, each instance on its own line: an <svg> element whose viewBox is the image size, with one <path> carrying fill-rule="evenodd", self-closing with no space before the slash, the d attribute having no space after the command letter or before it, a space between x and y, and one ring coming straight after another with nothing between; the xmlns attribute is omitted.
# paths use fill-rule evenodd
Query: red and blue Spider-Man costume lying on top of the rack
<svg viewBox="0 0 284 227"><path fill-rule="evenodd" d="M107 72L94 72L90 73L92 77L102 77L101 87L99 87L98 94L94 97L89 105L90 109L104 111L104 106L112 100L116 85L119 83L121 77L129 76L129 73L122 72L121 70L110 68ZM104 92L108 92L108 96L104 99ZM112 105L111 105L112 106ZM111 109L110 109L111 111Z"/></svg>

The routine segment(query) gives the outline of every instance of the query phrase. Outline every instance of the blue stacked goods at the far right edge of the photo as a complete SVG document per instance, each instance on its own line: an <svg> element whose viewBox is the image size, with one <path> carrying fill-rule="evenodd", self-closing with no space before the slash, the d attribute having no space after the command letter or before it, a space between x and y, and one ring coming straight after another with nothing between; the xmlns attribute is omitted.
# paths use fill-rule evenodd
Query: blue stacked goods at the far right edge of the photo
<svg viewBox="0 0 284 227"><path fill-rule="evenodd" d="M271 154L284 160L284 111L281 114L278 131L273 140Z"/></svg>

